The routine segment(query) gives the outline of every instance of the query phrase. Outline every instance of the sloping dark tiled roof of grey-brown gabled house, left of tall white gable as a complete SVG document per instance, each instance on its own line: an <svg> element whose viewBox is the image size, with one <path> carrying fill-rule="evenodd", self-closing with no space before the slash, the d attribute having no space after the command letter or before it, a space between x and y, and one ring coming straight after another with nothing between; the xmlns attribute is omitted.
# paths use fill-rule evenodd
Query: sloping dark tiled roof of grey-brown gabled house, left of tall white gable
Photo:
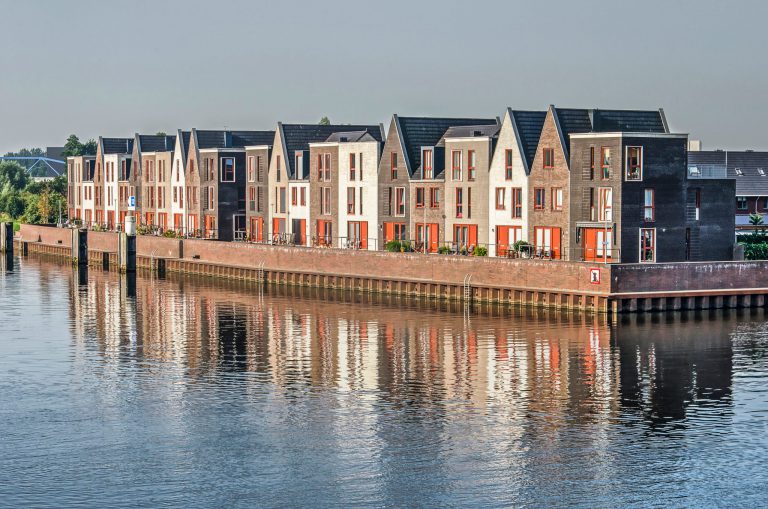
<svg viewBox="0 0 768 509"><path fill-rule="evenodd" d="M428 118L394 116L409 175L421 166L421 147L437 145L449 127L498 124L495 118Z"/></svg>

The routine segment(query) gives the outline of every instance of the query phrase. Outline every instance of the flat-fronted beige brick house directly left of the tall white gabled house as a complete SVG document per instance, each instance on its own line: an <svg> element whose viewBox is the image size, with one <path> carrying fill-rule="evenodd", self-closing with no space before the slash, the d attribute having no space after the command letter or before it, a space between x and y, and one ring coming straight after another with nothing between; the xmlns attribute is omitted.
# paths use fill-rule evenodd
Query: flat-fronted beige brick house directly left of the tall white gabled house
<svg viewBox="0 0 768 509"><path fill-rule="evenodd" d="M452 251L488 249L488 188L500 123L450 127L445 147L445 238Z"/></svg>

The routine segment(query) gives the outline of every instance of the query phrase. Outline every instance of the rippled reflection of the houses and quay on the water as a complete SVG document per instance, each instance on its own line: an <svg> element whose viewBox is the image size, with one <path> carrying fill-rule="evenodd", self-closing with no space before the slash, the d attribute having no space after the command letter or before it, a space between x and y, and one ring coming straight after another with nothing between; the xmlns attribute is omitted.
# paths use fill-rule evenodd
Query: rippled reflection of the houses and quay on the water
<svg viewBox="0 0 768 509"><path fill-rule="evenodd" d="M651 422L680 419L691 402L730 396L727 314L613 326L578 313L488 306L465 316L447 304L316 289L260 297L247 283L176 275L139 277L132 299L120 281L91 269L81 288L73 277L75 337L95 339L105 359L122 348L193 377L258 373L287 392L370 391L395 408L460 403L492 410L510 429L546 416L538 433L627 409Z"/></svg>

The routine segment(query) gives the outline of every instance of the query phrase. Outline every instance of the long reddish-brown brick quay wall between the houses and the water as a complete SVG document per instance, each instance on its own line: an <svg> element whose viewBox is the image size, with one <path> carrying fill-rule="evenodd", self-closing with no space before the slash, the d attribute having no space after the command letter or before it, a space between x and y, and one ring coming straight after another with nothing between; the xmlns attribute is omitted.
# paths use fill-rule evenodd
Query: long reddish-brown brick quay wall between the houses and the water
<svg viewBox="0 0 768 509"><path fill-rule="evenodd" d="M88 232L89 263L116 267L118 234ZM29 252L70 256L68 229L22 225ZM599 312L768 303L768 262L601 265L139 236L137 266L274 284ZM599 282L593 282L595 269ZM470 277L471 276L471 277ZM465 280L469 288L465 288ZM469 292L468 295L466 292Z"/></svg>

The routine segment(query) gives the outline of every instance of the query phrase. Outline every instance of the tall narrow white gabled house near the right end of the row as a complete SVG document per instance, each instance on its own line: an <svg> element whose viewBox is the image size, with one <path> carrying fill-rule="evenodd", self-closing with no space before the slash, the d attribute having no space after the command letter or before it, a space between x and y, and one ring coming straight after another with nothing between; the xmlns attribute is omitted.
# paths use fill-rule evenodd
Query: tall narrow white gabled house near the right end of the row
<svg viewBox="0 0 768 509"><path fill-rule="evenodd" d="M512 246L527 241L528 175L546 111L507 108L488 175L489 256L511 256Z"/></svg>

